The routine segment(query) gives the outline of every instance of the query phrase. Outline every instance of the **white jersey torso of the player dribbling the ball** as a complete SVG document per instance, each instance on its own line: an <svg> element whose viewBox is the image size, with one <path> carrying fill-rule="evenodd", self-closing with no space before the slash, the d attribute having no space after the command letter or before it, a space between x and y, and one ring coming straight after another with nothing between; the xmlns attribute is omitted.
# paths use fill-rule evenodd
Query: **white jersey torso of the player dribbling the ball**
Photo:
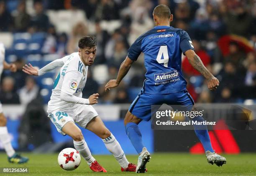
<svg viewBox="0 0 256 176"><path fill-rule="evenodd" d="M80 104L69 103L60 99L61 92L76 97L82 97L88 66L85 66L79 57L78 52L74 52L64 59L64 65L61 67L59 74L54 81L51 100L48 103L48 113L54 111L65 111L76 108Z"/></svg>

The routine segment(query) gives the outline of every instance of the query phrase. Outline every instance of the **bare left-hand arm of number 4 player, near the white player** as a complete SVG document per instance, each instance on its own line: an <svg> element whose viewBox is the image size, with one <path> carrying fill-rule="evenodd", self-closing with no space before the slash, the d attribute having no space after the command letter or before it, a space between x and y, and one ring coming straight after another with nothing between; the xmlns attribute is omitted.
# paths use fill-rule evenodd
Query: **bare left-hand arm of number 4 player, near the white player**
<svg viewBox="0 0 256 176"><path fill-rule="evenodd" d="M126 59L122 62L120 69L118 71L118 77L117 79L111 79L106 85L105 85L105 91L108 91L111 88L118 87L122 79L125 77L125 75L128 73L129 69L131 68L131 65L133 64L133 60L131 60L128 56Z"/></svg>

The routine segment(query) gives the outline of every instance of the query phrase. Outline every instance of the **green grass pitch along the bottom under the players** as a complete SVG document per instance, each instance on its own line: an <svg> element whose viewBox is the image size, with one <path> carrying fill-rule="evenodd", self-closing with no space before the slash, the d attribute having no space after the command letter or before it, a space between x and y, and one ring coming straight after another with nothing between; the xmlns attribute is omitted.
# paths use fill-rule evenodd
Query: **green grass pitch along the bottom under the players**
<svg viewBox="0 0 256 176"><path fill-rule="evenodd" d="M23 154L29 157L27 164L9 164L5 153L0 153L1 167L28 167L28 174L0 174L1 176L96 176L96 175L134 175L122 173L118 162L112 155L94 155L95 159L108 173L92 173L82 159L80 166L74 171L64 171L57 163L58 154ZM227 164L222 167L207 163L204 155L186 153L155 153L147 164L147 176L169 175L207 175L207 176L245 176L256 175L256 154L223 155ZM128 155L128 160L137 163L137 156Z"/></svg>

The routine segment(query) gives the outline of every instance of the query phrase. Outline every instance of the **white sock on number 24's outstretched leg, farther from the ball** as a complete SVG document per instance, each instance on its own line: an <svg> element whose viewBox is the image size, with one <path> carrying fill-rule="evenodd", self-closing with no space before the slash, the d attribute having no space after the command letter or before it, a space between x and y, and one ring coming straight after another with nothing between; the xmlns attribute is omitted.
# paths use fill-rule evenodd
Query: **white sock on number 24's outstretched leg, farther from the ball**
<svg viewBox="0 0 256 176"><path fill-rule="evenodd" d="M118 161L120 166L124 169L128 167L129 162L127 161L123 149L121 148L119 142L115 140L115 136L111 134L108 138L102 139L108 151L110 151L115 159Z"/></svg>

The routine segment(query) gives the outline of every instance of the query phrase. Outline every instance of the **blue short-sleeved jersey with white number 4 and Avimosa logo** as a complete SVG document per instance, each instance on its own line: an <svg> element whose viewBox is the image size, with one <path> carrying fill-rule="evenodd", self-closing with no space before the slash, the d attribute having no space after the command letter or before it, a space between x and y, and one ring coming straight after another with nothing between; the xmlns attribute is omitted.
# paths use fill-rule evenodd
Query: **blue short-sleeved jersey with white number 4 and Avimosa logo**
<svg viewBox="0 0 256 176"><path fill-rule="evenodd" d="M128 57L136 61L144 53L146 79L142 91L148 94L170 94L186 89L181 71L181 55L194 50L187 32L169 26L156 26L142 34L131 45Z"/></svg>

